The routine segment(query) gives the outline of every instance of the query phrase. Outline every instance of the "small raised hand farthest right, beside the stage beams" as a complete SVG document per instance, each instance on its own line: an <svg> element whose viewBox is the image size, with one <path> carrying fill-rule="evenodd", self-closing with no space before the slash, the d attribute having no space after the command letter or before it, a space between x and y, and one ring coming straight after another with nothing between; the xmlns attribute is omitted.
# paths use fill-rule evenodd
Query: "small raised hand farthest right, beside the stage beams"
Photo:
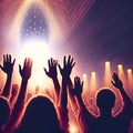
<svg viewBox="0 0 133 133"><path fill-rule="evenodd" d="M117 88L117 89L122 89L122 88L123 88L123 83L122 83L122 81L120 80L119 75L117 75L116 73L113 73L112 78L113 78L113 81L111 81L112 84L113 84L115 88Z"/></svg>

